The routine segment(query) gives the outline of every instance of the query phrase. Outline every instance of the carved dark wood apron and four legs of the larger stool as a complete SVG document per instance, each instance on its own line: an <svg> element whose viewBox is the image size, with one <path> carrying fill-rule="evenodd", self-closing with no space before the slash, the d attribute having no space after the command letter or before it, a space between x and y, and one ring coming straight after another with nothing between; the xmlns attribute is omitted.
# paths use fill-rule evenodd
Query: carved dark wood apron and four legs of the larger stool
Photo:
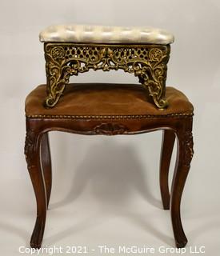
<svg viewBox="0 0 220 256"><path fill-rule="evenodd" d="M30 240L30 246L39 248L42 244L46 222L46 206L50 199L51 163L49 142L46 134L50 130L88 135L141 134L154 130L164 130L160 169L162 202L164 209L169 208L170 202L176 245L178 247L186 246L187 239L182 229L180 217L180 202L186 177L190 170L190 161L193 156L192 121L193 118L189 115L158 118L108 118L107 120L103 118L26 118L26 161L38 206L37 219ZM168 170L174 146L174 134L178 138L178 157L171 194L169 194ZM40 165L40 145L44 175L42 175Z"/></svg>

